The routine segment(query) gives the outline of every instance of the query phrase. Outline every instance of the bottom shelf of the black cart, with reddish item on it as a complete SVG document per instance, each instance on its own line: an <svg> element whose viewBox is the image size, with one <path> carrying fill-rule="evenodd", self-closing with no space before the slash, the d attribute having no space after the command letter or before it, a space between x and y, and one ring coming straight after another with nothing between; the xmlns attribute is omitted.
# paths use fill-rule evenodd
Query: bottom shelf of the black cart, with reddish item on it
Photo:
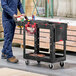
<svg viewBox="0 0 76 76"><path fill-rule="evenodd" d="M38 54L27 53L24 55L24 58L28 60L36 60L36 61L43 61L49 63L61 62L66 60L65 56L55 54L55 58L54 58L50 54L45 54L45 53L38 53Z"/></svg>

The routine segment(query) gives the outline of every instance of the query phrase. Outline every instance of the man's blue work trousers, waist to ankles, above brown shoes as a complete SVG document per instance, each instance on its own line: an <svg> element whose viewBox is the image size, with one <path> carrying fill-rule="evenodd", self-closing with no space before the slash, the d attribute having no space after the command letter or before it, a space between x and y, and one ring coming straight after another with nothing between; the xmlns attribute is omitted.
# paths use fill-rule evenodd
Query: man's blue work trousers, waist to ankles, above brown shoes
<svg viewBox="0 0 76 76"><path fill-rule="evenodd" d="M12 40L14 37L16 24L14 20L3 21L4 28L4 45L2 49L2 53L7 55L7 58L13 57L12 52Z"/></svg>

